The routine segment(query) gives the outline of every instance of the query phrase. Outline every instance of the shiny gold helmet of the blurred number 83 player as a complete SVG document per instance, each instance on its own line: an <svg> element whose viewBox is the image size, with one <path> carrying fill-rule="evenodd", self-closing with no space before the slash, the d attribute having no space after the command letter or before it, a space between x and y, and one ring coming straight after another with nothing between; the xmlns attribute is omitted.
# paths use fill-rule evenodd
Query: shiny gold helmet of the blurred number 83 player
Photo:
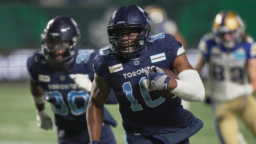
<svg viewBox="0 0 256 144"><path fill-rule="evenodd" d="M229 32L235 32L235 38L233 41L225 42L223 39L220 39L220 42L223 43L224 46L226 45L226 48L232 48L236 43L242 41L245 24L241 17L235 12L221 11L216 15L213 21L212 31L217 36Z"/></svg>

